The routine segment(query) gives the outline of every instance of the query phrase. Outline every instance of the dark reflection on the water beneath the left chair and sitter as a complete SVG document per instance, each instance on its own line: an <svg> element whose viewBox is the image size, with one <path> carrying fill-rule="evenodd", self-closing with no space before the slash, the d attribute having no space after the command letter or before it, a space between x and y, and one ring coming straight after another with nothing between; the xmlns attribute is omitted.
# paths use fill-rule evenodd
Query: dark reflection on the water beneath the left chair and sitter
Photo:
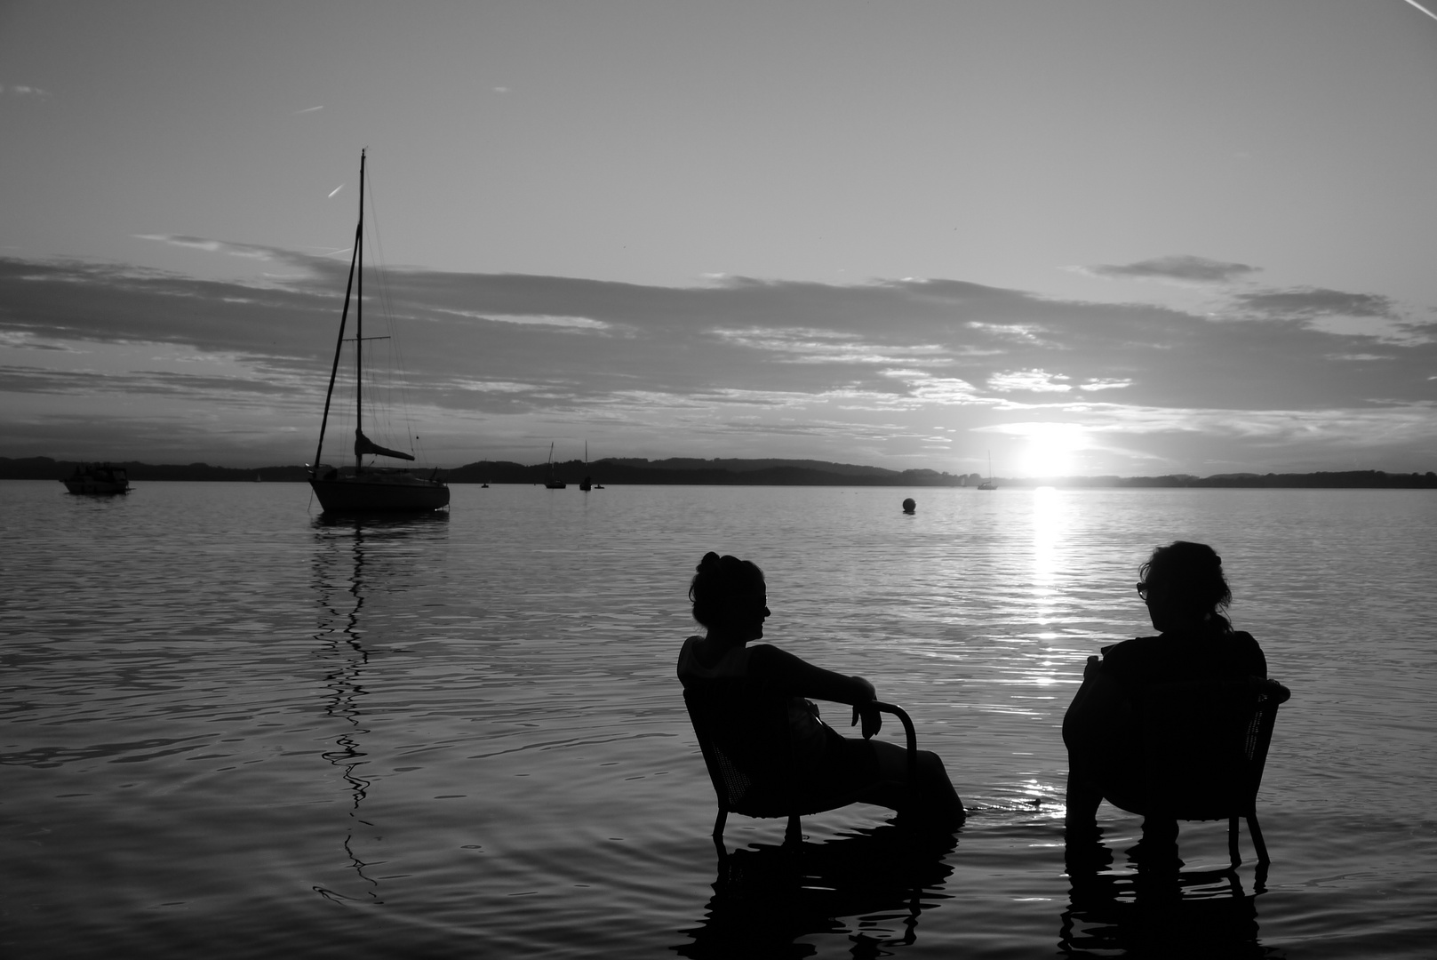
<svg viewBox="0 0 1437 960"><path fill-rule="evenodd" d="M885 825L826 844L750 846L718 861L703 926L683 957L808 957L813 936L846 936L854 957L882 957L918 938L920 915L947 900L953 834ZM848 920L844 920L848 918ZM856 920L855 920L856 918Z"/></svg>

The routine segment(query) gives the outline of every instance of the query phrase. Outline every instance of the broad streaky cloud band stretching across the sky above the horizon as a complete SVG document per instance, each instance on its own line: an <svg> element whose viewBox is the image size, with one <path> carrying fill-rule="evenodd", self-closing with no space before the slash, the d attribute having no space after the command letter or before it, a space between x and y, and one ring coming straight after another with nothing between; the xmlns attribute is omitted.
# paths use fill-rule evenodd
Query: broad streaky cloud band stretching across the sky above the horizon
<svg viewBox="0 0 1437 960"><path fill-rule="evenodd" d="M137 424L190 424L197 450L213 450L207 431L233 430L256 444L306 438L269 461L312 456L300 447L316 428L348 262L155 239L283 270L253 282L201 280L0 257L0 437L6 423L122 402ZM953 431L956 457L977 430L1071 421L1085 437L1106 438L1114 463L1152 458L1174 470L1184 448L1223 469L1237 469L1234 451L1365 450L1362 431L1382 423L1392 450L1433 448L1414 424L1431 414L1437 342L1423 338L1437 331L1410 325L1407 339L1392 341L1315 322L1344 309L1397 323L1384 297L1247 293L1234 309L1262 322L1234 323L957 280L724 277L660 287L422 269L391 269L385 280L382 300L365 286L365 335L397 339L378 341L366 356L378 371L392 354L388 381L420 411L415 433L447 437L445 461L523 458L578 434L634 456L714 456L721 441L726 456L902 463L928 448L935 420ZM1361 427L1277 430L1328 421ZM823 446L845 430L854 446ZM30 453L65 453L22 434ZM149 435L134 433L137 443Z"/></svg>

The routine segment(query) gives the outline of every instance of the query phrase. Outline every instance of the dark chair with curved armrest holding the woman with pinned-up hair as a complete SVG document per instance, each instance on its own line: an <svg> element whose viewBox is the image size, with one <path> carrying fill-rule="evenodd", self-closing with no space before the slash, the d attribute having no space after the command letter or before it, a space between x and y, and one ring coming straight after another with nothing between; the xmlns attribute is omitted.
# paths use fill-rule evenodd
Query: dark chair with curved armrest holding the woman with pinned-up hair
<svg viewBox="0 0 1437 960"><path fill-rule="evenodd" d="M759 818L786 816L789 825L785 839L799 842L803 838L802 815L859 800L862 790L841 798L805 795L789 737L787 697L743 680L710 680L685 687L684 704L718 799L713 835L720 851L730 812ZM872 706L897 716L902 723L908 737L908 788L914 789L918 736L912 720L901 707L878 701Z"/></svg>

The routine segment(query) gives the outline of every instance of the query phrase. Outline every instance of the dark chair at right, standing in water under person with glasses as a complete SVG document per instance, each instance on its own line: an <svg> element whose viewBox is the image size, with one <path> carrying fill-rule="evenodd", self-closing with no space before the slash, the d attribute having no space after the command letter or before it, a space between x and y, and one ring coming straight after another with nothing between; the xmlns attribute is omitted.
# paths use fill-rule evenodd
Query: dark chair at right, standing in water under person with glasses
<svg viewBox="0 0 1437 960"><path fill-rule="evenodd" d="M1088 674L1102 680L1092 664ZM1092 798L1101 793L1145 818L1145 844L1175 841L1177 821L1226 819L1233 868L1242 862L1239 819L1246 819L1265 871L1270 861L1257 822L1257 789L1277 707L1290 696L1276 680L1237 677L1155 684L1115 701L1109 721L1117 731L1109 727L1108 749L1085 756L1069 742L1069 813L1085 806L1075 796L1086 792L1096 808Z"/></svg>

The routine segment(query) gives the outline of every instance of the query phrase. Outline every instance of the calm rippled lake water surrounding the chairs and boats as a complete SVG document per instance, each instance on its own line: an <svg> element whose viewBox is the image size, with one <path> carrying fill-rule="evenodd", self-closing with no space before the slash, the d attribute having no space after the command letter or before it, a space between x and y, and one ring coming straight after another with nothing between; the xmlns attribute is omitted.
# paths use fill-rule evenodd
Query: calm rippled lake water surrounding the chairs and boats
<svg viewBox="0 0 1437 960"><path fill-rule="evenodd" d="M0 483L0 951L1433 956L1430 491L453 493L325 525L299 484ZM1262 892L1246 832L1237 887L1211 872L1221 823L1141 887L1109 806L1109 869L1065 874L1062 713L1151 632L1132 582L1177 537L1293 691ZM764 568L769 640L908 709L963 831L854 806L795 858L733 816L720 865L674 678L708 549Z"/></svg>

